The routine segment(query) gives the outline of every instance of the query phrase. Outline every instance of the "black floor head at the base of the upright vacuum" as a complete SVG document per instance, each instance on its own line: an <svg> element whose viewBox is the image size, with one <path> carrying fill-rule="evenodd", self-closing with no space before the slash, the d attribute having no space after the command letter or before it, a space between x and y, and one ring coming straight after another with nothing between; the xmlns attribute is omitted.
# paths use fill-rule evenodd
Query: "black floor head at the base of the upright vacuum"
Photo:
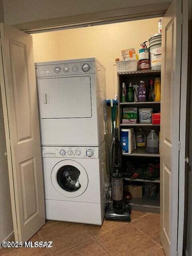
<svg viewBox="0 0 192 256"><path fill-rule="evenodd" d="M131 221L130 208L127 204L123 206L122 209L115 209L111 204L106 206L105 213L106 220L120 220L120 221Z"/></svg>

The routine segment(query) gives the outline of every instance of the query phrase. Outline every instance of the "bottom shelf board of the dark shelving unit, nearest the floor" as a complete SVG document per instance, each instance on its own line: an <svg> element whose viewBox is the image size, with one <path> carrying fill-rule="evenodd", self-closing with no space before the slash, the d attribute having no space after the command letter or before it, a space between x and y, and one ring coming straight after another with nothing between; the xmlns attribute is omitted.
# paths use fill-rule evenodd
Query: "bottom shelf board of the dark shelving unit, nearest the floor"
<svg viewBox="0 0 192 256"><path fill-rule="evenodd" d="M146 198L132 198L129 205L132 210L160 213L160 194L158 193L155 201L148 201Z"/></svg>

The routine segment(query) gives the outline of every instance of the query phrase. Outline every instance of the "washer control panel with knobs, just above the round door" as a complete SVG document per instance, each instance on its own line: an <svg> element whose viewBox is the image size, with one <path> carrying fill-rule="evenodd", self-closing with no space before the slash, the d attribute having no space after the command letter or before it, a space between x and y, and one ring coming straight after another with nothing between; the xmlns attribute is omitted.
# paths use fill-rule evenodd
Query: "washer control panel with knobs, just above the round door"
<svg viewBox="0 0 192 256"><path fill-rule="evenodd" d="M42 157L98 158L98 147L41 147Z"/></svg>

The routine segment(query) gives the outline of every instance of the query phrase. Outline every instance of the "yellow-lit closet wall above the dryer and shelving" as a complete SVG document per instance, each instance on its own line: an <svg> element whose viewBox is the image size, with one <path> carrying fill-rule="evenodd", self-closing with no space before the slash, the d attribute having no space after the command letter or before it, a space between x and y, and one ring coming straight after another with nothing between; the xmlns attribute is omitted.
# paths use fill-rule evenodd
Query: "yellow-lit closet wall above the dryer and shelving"
<svg viewBox="0 0 192 256"><path fill-rule="evenodd" d="M35 62L96 57L106 67L107 98L117 92L113 67L121 50L135 47L158 32L158 18L32 34ZM114 70L114 72L113 72Z"/></svg>

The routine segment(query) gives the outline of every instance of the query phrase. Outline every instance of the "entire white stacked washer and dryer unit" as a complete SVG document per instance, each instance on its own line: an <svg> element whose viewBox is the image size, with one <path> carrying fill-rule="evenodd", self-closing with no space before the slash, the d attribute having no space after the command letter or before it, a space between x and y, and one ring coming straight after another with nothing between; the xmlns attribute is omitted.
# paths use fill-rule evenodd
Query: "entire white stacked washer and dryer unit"
<svg viewBox="0 0 192 256"><path fill-rule="evenodd" d="M101 225L106 82L96 58L36 63L46 219Z"/></svg>

